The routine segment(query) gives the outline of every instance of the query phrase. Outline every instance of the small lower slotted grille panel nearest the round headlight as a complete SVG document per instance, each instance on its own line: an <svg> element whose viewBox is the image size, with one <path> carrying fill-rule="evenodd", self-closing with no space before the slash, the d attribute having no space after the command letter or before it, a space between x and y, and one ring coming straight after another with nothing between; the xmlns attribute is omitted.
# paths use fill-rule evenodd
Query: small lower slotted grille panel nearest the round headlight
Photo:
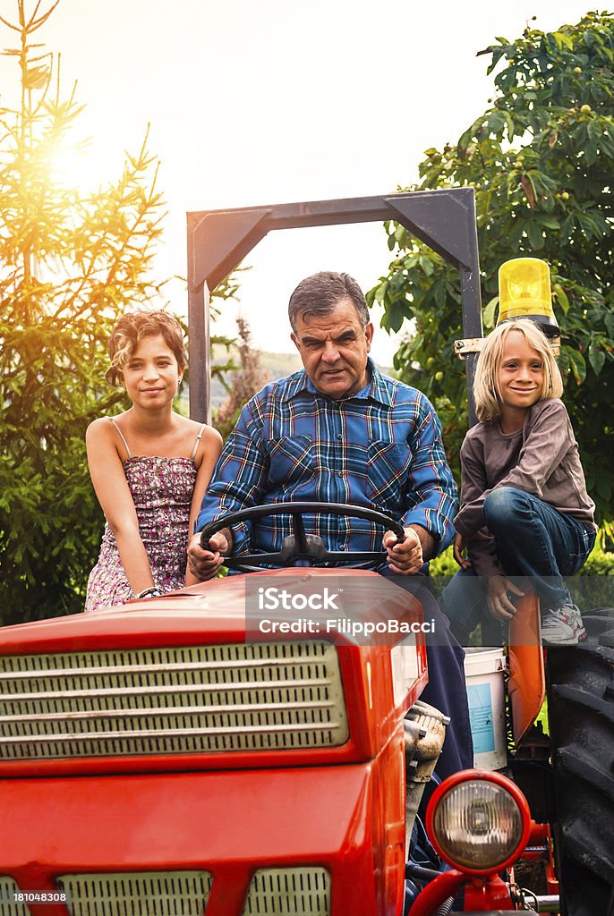
<svg viewBox="0 0 614 916"><path fill-rule="evenodd" d="M266 868L249 885L243 916L329 916L331 876L325 868Z"/></svg>

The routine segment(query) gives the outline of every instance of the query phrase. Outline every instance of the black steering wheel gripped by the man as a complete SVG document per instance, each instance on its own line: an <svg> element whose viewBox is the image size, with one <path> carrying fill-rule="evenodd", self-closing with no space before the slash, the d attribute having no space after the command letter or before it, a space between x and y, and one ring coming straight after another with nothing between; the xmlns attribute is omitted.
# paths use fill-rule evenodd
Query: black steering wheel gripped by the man
<svg viewBox="0 0 614 916"><path fill-rule="evenodd" d="M205 551L210 550L209 539L214 534L223 528L230 528L250 518L289 515L291 516L292 533L284 538L280 551L273 553L258 551L239 557L226 557L224 565L238 573L258 573L258 570L265 566L320 566L323 563L343 563L348 569L375 569L386 561L386 551L327 551L322 538L305 532L302 516L315 512L378 522L385 526L387 531L396 534L399 543L405 540L405 532L399 522L376 509L350 506L346 503L269 503L229 512L228 515L217 518L206 525L201 532L201 547Z"/></svg>

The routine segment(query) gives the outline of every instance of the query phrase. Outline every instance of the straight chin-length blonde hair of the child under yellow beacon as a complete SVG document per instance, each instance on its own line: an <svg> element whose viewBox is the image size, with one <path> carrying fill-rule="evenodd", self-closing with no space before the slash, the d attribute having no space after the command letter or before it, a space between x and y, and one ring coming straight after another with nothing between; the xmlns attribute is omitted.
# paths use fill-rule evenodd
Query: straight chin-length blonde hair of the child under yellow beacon
<svg viewBox="0 0 614 916"><path fill-rule="evenodd" d="M563 394L563 379L550 344L540 330L539 325L528 318L517 318L512 322L503 322L488 334L477 359L476 378L473 394L476 401L477 419L482 423L499 420L501 415L499 391L499 366L503 346L512 331L524 334L527 344L532 346L542 357L543 361L543 389L540 400L560 398Z"/></svg>

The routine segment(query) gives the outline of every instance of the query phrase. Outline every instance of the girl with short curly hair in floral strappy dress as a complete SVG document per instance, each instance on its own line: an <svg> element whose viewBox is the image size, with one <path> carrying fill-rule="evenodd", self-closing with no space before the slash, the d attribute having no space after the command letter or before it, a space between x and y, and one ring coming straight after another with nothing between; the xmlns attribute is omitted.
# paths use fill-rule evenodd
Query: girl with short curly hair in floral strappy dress
<svg viewBox="0 0 614 916"><path fill-rule="evenodd" d="M164 311L135 311L109 341L111 384L132 407L101 417L85 442L93 488L106 518L85 610L153 597L196 582L189 533L222 449L217 431L172 409L185 368L181 325Z"/></svg>

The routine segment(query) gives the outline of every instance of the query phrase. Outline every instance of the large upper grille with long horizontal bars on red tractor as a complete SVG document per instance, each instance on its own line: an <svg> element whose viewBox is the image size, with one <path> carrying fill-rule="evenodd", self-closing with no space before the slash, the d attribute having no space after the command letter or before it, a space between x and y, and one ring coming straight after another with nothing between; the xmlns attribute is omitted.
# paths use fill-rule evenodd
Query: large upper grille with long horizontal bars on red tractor
<svg viewBox="0 0 614 916"><path fill-rule="evenodd" d="M334 747L347 740L326 642L0 656L0 759Z"/></svg>

